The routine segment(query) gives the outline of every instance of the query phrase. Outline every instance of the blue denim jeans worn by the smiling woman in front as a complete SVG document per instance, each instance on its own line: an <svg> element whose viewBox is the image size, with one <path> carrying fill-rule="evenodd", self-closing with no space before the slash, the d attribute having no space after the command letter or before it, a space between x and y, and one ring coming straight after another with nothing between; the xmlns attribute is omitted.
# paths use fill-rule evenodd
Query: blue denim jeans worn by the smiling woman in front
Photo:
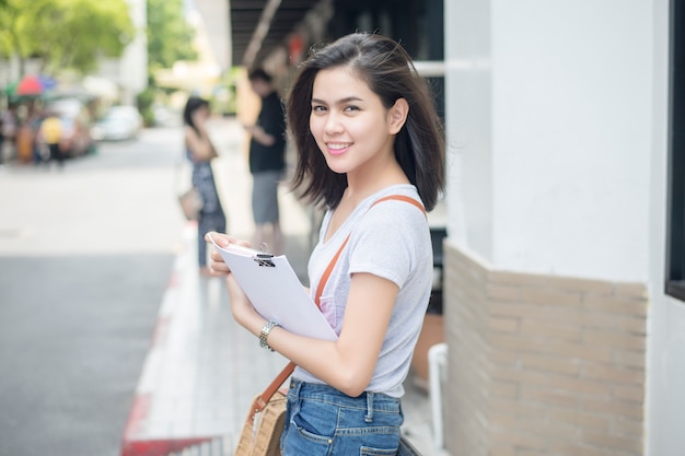
<svg viewBox="0 0 685 456"><path fill-rule="evenodd" d="M327 385L291 381L283 456L390 456L399 449L399 399L363 393L349 397Z"/></svg>

